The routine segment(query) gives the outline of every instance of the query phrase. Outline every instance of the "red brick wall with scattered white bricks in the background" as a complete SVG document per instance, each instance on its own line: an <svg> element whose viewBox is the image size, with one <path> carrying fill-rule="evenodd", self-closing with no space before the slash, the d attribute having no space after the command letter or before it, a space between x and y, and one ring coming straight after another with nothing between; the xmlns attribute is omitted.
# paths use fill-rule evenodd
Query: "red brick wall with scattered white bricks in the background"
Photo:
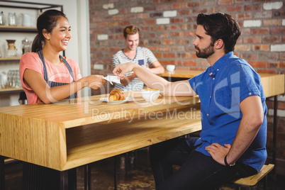
<svg viewBox="0 0 285 190"><path fill-rule="evenodd" d="M231 14L241 26L242 35L235 46L235 54L247 60L259 73L285 73L285 4L282 0L89 0L89 9L92 74L111 73L113 54L124 47L123 28L130 24L140 28L140 45L152 50L162 65L206 69L208 63L196 57L192 45L196 16L217 11ZM278 96L278 100L276 155L284 159L284 94ZM267 105L267 144L270 147L272 99L267 100Z"/></svg>

